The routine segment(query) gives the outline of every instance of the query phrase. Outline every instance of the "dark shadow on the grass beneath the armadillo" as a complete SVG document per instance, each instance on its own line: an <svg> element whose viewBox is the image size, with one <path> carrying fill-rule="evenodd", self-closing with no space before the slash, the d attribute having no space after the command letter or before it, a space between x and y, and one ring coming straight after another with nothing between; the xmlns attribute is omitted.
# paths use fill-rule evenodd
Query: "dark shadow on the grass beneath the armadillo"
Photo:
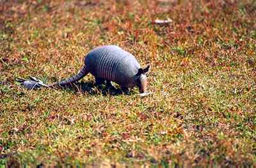
<svg viewBox="0 0 256 168"><path fill-rule="evenodd" d="M81 81L72 85L67 85L62 89L70 90L75 93L90 94L90 95L131 95L132 91L124 91L117 87L106 87L106 85L95 85L93 81Z"/></svg>

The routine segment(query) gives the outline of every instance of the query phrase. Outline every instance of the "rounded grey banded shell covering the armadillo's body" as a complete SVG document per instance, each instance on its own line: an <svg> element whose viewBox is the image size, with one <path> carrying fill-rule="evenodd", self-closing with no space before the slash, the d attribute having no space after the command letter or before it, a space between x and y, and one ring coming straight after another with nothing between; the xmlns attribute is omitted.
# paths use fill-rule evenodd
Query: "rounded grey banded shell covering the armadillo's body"
<svg viewBox="0 0 256 168"><path fill-rule="evenodd" d="M95 48L85 58L86 69L96 78L115 81L122 87L135 87L140 64L129 52L109 45Z"/></svg>

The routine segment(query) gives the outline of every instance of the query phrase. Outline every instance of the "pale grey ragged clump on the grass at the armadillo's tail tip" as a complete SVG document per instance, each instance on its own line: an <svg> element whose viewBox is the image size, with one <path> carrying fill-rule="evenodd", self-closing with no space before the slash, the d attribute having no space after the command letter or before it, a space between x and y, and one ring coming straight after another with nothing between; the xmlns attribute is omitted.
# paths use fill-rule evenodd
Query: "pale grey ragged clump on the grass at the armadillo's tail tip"
<svg viewBox="0 0 256 168"><path fill-rule="evenodd" d="M36 78L29 76L30 80L24 80L22 78L17 78L16 81L21 83L24 87L28 88L29 90L40 88L40 87L49 87L45 85L41 80L37 80Z"/></svg>

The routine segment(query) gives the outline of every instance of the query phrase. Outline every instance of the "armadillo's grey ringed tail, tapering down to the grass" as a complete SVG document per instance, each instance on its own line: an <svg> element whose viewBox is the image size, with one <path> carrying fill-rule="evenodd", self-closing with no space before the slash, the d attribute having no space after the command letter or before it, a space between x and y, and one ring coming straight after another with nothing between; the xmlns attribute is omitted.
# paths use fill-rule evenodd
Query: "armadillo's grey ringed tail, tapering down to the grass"
<svg viewBox="0 0 256 168"><path fill-rule="evenodd" d="M89 71L86 69L86 66L84 66L80 71L79 73L77 73L76 75L74 76L71 76L70 78L68 78L67 80L63 80L63 81L59 81L59 82L56 82L56 83L52 83L51 85L49 85L49 87L63 87L65 85L70 85L76 81L79 81L81 80L84 76L86 76L86 74L88 74Z"/></svg>

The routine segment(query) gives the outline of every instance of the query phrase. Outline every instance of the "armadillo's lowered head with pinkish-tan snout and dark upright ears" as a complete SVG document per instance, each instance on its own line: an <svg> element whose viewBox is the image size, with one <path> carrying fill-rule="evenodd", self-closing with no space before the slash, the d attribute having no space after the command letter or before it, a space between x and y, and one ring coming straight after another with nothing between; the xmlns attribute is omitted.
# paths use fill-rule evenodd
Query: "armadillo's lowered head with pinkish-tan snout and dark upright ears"
<svg viewBox="0 0 256 168"><path fill-rule="evenodd" d="M146 73L149 70L150 65L146 66L145 68L140 68L137 74L137 86L139 87L140 93L145 93L147 92L147 76Z"/></svg>

